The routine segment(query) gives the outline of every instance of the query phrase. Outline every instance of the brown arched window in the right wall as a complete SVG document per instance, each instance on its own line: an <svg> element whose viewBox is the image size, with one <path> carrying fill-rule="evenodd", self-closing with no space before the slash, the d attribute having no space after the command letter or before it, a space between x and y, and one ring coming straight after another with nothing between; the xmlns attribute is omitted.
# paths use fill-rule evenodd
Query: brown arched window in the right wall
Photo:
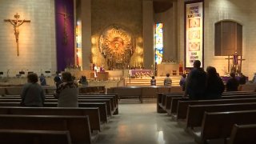
<svg viewBox="0 0 256 144"><path fill-rule="evenodd" d="M242 55L242 25L233 21L215 23L215 56Z"/></svg>

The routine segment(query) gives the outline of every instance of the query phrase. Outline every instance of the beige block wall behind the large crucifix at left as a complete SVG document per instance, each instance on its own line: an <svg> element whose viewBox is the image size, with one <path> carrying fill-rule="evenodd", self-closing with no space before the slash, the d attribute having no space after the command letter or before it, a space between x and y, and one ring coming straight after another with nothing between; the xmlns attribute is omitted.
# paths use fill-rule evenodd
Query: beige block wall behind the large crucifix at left
<svg viewBox="0 0 256 144"><path fill-rule="evenodd" d="M3 19L29 19L20 26L19 53L16 53L14 27ZM56 70L54 0L0 0L0 71Z"/></svg>

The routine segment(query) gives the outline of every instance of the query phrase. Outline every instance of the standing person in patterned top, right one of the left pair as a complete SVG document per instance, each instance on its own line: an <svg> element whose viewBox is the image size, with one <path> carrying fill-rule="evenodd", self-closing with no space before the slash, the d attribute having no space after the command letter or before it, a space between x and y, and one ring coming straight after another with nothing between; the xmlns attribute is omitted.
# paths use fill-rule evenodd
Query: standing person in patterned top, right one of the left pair
<svg viewBox="0 0 256 144"><path fill-rule="evenodd" d="M58 107L78 107L78 84L74 82L70 72L62 73L62 83L54 97L58 98Z"/></svg>

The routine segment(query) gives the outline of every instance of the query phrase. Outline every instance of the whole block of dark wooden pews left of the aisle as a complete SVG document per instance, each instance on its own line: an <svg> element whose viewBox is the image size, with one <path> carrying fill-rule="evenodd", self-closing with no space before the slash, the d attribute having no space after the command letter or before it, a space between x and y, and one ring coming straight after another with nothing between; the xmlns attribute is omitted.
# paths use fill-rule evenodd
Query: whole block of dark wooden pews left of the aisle
<svg viewBox="0 0 256 144"><path fill-rule="evenodd" d="M1 143L92 143L118 114L117 94L79 94L79 107L57 107L46 94L44 107L21 107L20 95L0 97Z"/></svg>

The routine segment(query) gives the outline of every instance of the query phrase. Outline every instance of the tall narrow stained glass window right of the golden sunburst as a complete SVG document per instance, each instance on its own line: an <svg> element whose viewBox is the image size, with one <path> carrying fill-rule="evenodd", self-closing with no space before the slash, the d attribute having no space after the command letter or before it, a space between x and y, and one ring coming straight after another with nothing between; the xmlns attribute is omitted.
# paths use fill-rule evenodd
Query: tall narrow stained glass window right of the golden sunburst
<svg viewBox="0 0 256 144"><path fill-rule="evenodd" d="M163 37L162 37L162 23L157 23L155 26L155 62L160 64L162 62L163 53Z"/></svg>

